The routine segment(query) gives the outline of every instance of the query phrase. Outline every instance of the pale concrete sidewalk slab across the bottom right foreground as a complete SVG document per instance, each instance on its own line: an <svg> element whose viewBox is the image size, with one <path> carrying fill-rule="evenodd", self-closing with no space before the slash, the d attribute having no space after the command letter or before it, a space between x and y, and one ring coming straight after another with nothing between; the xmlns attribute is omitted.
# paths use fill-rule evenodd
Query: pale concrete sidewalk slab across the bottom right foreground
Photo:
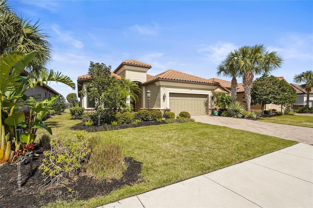
<svg viewBox="0 0 313 208"><path fill-rule="evenodd" d="M102 206L313 207L313 146L279 151Z"/></svg>

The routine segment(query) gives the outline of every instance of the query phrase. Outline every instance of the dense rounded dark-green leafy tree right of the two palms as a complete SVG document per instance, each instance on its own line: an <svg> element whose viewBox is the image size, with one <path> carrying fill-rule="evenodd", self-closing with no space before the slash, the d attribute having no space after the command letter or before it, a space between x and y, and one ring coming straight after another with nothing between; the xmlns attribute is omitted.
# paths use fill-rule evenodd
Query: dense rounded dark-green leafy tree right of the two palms
<svg viewBox="0 0 313 208"><path fill-rule="evenodd" d="M266 104L286 105L296 102L296 94L292 87L275 76L264 74L253 82L251 104L260 104L262 115Z"/></svg>

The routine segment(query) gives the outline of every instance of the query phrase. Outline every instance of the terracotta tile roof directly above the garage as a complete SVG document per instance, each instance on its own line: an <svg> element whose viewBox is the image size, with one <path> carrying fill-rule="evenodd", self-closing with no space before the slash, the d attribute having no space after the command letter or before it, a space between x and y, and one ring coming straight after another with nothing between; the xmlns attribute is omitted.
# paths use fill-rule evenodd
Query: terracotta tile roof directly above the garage
<svg viewBox="0 0 313 208"><path fill-rule="evenodd" d="M159 79L164 80L176 80L176 81L186 81L186 82L194 82L194 83L209 83L209 84L218 84L214 81L210 81L207 79L203 79L201 77L197 77L194 75L186 74L180 71L176 71L174 69L167 70L163 73L160 73L156 76L147 76L147 81L145 83L150 83Z"/></svg>

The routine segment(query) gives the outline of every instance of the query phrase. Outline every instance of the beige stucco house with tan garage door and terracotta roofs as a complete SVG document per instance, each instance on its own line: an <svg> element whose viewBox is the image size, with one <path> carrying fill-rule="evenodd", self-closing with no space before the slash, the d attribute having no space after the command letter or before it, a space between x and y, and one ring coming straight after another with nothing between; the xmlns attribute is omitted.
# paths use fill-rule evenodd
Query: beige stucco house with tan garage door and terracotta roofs
<svg viewBox="0 0 313 208"><path fill-rule="evenodd" d="M147 74L151 67L147 63L126 60L112 72L112 76L118 79L123 76L139 84L141 94L138 95L139 101L134 104L135 111L148 108L146 91L150 90L150 109L170 108L175 115L181 111L188 111L191 115L212 113L214 108L212 96L219 86L218 83L173 69L151 76ZM89 81L89 74L79 76L77 80L78 97L81 99L81 106L85 109L93 107L93 102L80 94L82 89L86 89L86 83Z"/></svg>

